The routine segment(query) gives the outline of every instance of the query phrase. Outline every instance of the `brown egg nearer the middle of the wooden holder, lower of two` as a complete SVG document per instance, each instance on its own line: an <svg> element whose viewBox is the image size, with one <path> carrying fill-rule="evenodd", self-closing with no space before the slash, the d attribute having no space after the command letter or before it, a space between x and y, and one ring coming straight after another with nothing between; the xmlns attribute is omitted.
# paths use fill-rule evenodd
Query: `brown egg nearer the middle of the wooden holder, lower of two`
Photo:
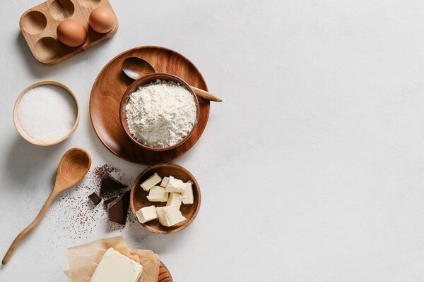
<svg viewBox="0 0 424 282"><path fill-rule="evenodd" d="M69 47L78 47L87 39L87 30L77 20L64 20L57 26L57 38Z"/></svg>

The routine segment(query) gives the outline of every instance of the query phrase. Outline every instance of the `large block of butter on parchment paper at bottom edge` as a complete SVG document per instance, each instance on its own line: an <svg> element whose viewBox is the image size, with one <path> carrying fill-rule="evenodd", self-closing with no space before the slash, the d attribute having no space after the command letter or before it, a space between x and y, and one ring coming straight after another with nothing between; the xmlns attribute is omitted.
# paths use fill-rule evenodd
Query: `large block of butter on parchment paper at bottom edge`
<svg viewBox="0 0 424 282"><path fill-rule="evenodd" d="M142 273L141 264L111 247L102 256L90 282L137 282Z"/></svg>

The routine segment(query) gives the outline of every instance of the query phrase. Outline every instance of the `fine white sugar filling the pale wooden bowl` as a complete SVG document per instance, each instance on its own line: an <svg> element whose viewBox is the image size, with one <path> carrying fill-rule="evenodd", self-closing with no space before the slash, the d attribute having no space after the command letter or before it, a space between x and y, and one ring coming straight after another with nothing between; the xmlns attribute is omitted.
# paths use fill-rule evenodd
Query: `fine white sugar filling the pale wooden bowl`
<svg viewBox="0 0 424 282"><path fill-rule="evenodd" d="M71 94L56 85L29 90L18 105L18 123L25 133L42 143L65 137L76 121L76 103Z"/></svg>

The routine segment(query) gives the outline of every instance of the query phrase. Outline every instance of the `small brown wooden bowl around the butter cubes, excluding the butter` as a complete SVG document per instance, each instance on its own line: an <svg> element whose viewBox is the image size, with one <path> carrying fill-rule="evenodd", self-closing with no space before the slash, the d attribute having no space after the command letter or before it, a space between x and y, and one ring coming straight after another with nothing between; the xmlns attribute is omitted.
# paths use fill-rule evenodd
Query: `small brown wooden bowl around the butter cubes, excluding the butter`
<svg viewBox="0 0 424 282"><path fill-rule="evenodd" d="M148 221L146 223L141 223L141 225L149 231L159 234L170 234L182 231L194 221L199 212L201 203L199 183L197 183L197 180L196 178L194 178L192 173L187 171L187 169L183 168L182 166L179 166L177 164L155 164L153 166L149 166L142 173L140 173L131 188L131 210L134 216L136 216L136 212L143 207L149 207L151 205L154 205L156 207L165 207L166 202L150 202L147 199L147 195L149 192L143 190L143 188L141 188L140 186L141 183L143 183L149 177L153 176L154 173L158 173L160 178L163 178L165 176L174 176L175 178L178 178L183 182L187 182L189 180L192 181L194 201L193 204L181 205L181 208L179 210L186 218L186 220L179 222L174 226L163 226L159 223L158 219L154 219L153 221Z"/></svg>

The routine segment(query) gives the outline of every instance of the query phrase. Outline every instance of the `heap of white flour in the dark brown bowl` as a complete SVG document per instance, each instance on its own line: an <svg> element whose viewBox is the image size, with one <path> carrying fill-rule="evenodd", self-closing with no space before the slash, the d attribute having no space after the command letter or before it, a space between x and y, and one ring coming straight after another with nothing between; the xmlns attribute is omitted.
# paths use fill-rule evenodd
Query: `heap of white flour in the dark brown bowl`
<svg viewBox="0 0 424 282"><path fill-rule="evenodd" d="M186 137L196 121L194 97L169 80L142 85L129 97L126 121L131 134L149 147L168 147Z"/></svg>

